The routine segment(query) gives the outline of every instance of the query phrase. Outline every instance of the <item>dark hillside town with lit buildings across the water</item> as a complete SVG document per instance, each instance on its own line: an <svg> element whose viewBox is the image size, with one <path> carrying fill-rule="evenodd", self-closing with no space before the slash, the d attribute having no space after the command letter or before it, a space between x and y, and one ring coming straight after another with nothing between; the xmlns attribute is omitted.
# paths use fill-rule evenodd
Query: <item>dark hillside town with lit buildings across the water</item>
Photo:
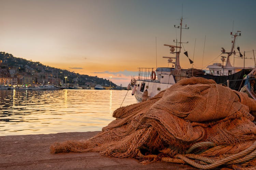
<svg viewBox="0 0 256 170"><path fill-rule="evenodd" d="M96 84L103 86L110 86L111 84L116 87L113 82L97 76L80 75L0 52L0 86L17 88L49 84L60 87L81 87L83 89L94 88Z"/></svg>

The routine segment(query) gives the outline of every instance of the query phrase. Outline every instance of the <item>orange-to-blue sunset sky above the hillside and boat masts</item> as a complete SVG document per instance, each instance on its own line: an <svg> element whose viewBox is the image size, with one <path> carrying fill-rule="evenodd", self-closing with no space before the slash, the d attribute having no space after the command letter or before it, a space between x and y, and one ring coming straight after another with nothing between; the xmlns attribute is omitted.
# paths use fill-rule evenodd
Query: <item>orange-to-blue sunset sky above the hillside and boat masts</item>
<svg viewBox="0 0 256 170"><path fill-rule="evenodd" d="M0 51L75 73L112 76L126 87L138 67L156 67L156 60L158 67L168 66L162 56L174 56L163 44L179 40L174 25L181 16L189 27L182 41L195 68L221 62L232 30L241 31L236 48L253 58L255 8L256 0L0 0ZM180 63L192 67L183 53ZM234 64L243 66L243 60ZM254 66L254 60L245 65Z"/></svg>

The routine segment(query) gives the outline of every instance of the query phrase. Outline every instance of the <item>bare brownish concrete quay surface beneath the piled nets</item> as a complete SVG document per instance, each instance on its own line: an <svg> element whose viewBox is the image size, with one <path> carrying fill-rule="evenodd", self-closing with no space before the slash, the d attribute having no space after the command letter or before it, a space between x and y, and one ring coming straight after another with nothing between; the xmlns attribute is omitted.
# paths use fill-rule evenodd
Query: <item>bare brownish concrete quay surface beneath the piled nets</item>
<svg viewBox="0 0 256 170"><path fill-rule="evenodd" d="M102 156L97 152L50 153L50 145L89 139L99 132L0 136L0 169L195 169L188 165L155 162L142 165L133 158Z"/></svg>

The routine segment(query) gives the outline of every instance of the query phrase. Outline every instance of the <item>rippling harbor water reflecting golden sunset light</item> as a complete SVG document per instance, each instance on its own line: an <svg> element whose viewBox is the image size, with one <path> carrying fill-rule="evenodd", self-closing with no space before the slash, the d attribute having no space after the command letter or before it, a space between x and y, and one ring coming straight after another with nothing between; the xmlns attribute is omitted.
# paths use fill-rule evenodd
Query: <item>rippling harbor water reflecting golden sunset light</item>
<svg viewBox="0 0 256 170"><path fill-rule="evenodd" d="M127 90L0 90L0 136L89 132L136 103ZM126 96L126 97L125 97Z"/></svg>

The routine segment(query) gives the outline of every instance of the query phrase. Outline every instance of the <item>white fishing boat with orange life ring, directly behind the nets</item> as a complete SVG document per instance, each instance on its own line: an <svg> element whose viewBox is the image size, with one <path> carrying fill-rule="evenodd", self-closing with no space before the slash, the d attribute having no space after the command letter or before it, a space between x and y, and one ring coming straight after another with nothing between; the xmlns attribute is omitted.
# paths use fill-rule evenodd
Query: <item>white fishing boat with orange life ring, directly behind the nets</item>
<svg viewBox="0 0 256 170"><path fill-rule="evenodd" d="M147 99L154 97L160 91L165 90L175 84L177 81L183 78L189 78L192 76L203 75L204 71L195 68L182 69L180 65L180 53L182 29L188 29L187 25L183 27L182 17L180 26L175 28L180 30L180 41L173 41L176 45L164 44L164 46L170 47L170 53L175 57L163 57L168 59L168 67L157 67L157 68L139 68L139 77L132 78L129 83L127 90L131 87L132 95L135 96L137 103L146 101ZM187 43L187 42L186 42ZM179 46L177 46L179 44ZM188 57L187 51L184 52L185 56ZM189 59L189 58L188 58ZM175 61L174 61L175 60ZM190 64L193 63L189 59ZM169 67L169 64L172 66Z"/></svg>

